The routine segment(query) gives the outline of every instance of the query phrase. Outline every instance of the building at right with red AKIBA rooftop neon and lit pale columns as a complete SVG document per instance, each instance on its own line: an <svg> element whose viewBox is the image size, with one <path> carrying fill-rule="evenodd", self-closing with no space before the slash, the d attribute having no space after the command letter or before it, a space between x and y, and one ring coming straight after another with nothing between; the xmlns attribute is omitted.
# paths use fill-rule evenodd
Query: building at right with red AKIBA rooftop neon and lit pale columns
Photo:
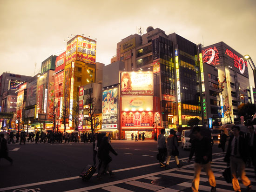
<svg viewBox="0 0 256 192"><path fill-rule="evenodd" d="M218 84L211 86L220 91L222 125L240 122L238 106L251 101L247 61L224 42L203 47L202 60L218 70Z"/></svg>

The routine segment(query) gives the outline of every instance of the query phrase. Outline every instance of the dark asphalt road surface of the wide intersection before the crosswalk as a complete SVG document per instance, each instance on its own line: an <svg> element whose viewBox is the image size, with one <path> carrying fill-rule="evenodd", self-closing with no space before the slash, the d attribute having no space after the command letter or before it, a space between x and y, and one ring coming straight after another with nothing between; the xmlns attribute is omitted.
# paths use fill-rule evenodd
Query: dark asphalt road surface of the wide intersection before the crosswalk
<svg viewBox="0 0 256 192"><path fill-rule="evenodd" d="M13 165L6 159L0 161L0 191L18 192L17 189L21 188L40 189L34 190L36 192L72 191L165 171L156 160L157 142L113 140L111 145L118 153L118 156L111 154L110 167L116 172L115 177L104 175L103 180L98 181L96 176L93 176L85 182L78 176L86 165L93 164L92 143L10 144L9 156L14 161ZM189 165L185 162L189 151L184 151L180 146L179 152L179 159L183 159L182 164ZM214 145L213 153L221 152L221 149ZM218 157L218 154L213 156ZM176 167L175 162L170 165L171 168Z"/></svg>

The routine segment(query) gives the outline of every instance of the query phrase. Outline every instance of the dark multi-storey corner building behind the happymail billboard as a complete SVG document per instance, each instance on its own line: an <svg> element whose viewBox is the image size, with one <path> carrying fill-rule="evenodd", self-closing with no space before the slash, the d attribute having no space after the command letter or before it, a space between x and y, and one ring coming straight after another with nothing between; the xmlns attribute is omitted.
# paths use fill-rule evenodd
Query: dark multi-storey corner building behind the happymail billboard
<svg viewBox="0 0 256 192"><path fill-rule="evenodd" d="M202 124L197 46L159 28L147 28L143 35L130 35L117 44L116 60L128 72L153 72L152 131L187 126L189 119ZM156 130L157 129L157 130ZM167 130L168 131L168 130Z"/></svg>

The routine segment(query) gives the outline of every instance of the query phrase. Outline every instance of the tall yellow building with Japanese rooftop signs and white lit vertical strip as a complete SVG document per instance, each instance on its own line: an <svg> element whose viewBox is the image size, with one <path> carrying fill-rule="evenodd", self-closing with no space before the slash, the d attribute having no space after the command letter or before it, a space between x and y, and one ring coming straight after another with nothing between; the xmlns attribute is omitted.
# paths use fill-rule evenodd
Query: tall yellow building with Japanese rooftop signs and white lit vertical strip
<svg viewBox="0 0 256 192"><path fill-rule="evenodd" d="M76 35L67 41L62 106L68 108L68 127L74 128L74 99L79 87L95 81L96 41ZM72 128L72 129L73 129Z"/></svg>

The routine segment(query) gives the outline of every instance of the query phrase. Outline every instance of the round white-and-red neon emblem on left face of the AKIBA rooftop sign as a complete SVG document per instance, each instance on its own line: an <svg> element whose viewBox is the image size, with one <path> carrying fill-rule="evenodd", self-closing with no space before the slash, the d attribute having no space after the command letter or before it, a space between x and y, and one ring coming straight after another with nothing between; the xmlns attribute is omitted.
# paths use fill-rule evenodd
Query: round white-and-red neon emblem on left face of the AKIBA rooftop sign
<svg viewBox="0 0 256 192"><path fill-rule="evenodd" d="M203 63L214 66L220 64L219 51L215 46L213 48L209 47L208 49L202 50L202 54Z"/></svg>

